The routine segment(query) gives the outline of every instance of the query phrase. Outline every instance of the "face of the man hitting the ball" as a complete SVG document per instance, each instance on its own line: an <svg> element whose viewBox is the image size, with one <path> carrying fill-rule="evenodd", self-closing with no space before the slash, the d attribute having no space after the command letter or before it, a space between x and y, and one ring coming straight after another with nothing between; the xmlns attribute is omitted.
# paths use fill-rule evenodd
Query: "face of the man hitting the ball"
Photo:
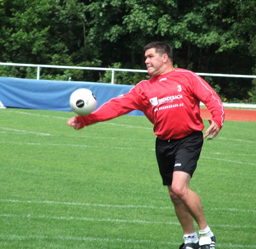
<svg viewBox="0 0 256 249"><path fill-rule="evenodd" d="M155 52L155 48L145 51L145 64L150 76L160 75L162 72L163 56Z"/></svg>

